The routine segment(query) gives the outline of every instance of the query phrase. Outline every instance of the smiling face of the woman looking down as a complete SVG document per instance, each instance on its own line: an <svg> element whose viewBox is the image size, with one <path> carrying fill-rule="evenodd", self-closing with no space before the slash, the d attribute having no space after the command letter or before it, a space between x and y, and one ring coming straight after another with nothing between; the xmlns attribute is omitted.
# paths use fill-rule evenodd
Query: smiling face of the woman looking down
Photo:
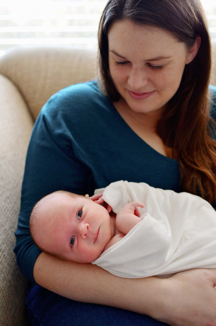
<svg viewBox="0 0 216 326"><path fill-rule="evenodd" d="M171 33L126 20L111 26L108 44L114 85L128 106L142 113L161 112L194 57Z"/></svg>

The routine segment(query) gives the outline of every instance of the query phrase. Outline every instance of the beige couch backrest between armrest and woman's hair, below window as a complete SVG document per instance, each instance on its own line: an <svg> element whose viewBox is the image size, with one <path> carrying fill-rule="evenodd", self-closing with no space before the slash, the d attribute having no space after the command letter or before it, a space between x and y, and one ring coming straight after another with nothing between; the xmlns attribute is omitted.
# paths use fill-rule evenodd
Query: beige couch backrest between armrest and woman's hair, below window
<svg viewBox="0 0 216 326"><path fill-rule="evenodd" d="M35 120L57 91L96 77L96 50L15 46L0 58L0 73L18 87Z"/></svg>

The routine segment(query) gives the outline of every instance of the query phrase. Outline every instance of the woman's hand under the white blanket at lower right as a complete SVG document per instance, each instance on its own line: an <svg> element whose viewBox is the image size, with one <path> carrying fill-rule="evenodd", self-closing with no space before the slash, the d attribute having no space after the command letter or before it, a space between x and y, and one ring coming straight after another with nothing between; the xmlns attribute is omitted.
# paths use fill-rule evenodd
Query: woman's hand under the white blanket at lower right
<svg viewBox="0 0 216 326"><path fill-rule="evenodd" d="M161 310L153 318L171 326L216 325L215 269L181 272L163 279L163 283Z"/></svg>

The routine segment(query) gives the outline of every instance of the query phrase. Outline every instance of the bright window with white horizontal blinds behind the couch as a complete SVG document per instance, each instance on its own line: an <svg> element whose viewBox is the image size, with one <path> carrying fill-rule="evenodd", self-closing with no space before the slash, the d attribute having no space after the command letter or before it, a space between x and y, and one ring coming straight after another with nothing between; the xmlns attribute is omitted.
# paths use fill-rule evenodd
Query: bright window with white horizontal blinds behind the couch
<svg viewBox="0 0 216 326"><path fill-rule="evenodd" d="M201 0L216 40L216 0ZM12 45L97 47L107 0L0 0L0 54Z"/></svg>

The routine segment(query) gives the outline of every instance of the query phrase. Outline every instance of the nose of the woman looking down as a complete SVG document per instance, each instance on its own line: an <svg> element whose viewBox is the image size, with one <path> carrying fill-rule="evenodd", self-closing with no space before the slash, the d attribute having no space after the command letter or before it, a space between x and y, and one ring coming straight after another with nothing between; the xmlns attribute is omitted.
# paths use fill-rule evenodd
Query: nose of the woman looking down
<svg viewBox="0 0 216 326"><path fill-rule="evenodd" d="M133 67L128 76L128 84L131 87L131 91L139 91L143 86L147 84L147 75L141 67Z"/></svg>

